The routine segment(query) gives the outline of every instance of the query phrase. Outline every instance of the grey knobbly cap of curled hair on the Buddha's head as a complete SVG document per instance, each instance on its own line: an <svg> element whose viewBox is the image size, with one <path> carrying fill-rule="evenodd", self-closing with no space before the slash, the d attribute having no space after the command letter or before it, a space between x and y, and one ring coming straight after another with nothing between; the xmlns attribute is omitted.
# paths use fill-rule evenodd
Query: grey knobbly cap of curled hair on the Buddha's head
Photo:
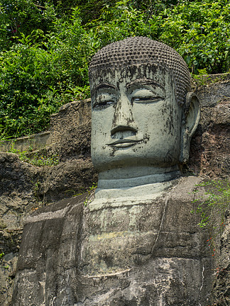
<svg viewBox="0 0 230 306"><path fill-rule="evenodd" d="M131 37L103 47L92 57L89 79L98 69L122 69L136 64L166 67L175 78L177 103L183 106L190 91L191 76L187 64L172 47L146 37Z"/></svg>

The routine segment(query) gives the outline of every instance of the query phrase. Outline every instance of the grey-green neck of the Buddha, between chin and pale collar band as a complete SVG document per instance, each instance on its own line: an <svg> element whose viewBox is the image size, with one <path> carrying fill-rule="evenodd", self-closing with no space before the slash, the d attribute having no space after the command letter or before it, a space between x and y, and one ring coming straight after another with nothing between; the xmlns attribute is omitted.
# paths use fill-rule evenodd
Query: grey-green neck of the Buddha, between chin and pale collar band
<svg viewBox="0 0 230 306"><path fill-rule="evenodd" d="M116 168L99 173L98 189L133 188L170 181L179 176L180 171L177 165L167 168L153 166Z"/></svg>

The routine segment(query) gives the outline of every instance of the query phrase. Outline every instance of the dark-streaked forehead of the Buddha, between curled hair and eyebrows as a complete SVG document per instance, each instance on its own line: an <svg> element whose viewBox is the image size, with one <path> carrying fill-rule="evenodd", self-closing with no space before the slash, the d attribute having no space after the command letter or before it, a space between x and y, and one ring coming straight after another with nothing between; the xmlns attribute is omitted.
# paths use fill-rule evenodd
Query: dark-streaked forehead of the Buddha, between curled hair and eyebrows
<svg viewBox="0 0 230 306"><path fill-rule="evenodd" d="M160 87L165 88L165 83L171 82L173 77L165 67L150 64L140 64L125 67L123 69L107 68L94 71L94 75L90 79L92 91L96 90L101 84L111 84L120 89L125 84L135 84L154 81Z"/></svg>

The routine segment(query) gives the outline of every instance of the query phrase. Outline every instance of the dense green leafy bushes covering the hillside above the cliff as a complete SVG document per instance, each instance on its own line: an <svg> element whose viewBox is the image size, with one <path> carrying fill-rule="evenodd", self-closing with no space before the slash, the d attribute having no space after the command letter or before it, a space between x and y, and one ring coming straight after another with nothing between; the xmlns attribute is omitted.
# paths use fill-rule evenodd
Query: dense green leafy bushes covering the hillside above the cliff
<svg viewBox="0 0 230 306"><path fill-rule="evenodd" d="M89 97L90 59L128 36L174 47L192 74L228 72L229 16L229 0L0 0L1 138L40 132Z"/></svg>

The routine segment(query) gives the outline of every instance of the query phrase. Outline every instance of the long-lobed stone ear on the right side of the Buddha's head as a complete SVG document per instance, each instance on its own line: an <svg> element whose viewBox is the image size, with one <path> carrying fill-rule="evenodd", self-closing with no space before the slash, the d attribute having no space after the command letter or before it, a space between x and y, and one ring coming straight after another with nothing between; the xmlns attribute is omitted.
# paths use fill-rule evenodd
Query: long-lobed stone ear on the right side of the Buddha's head
<svg viewBox="0 0 230 306"><path fill-rule="evenodd" d="M197 96L189 92L185 101L185 114L182 120L180 162L187 162L190 156L190 140L197 129L200 107Z"/></svg>

